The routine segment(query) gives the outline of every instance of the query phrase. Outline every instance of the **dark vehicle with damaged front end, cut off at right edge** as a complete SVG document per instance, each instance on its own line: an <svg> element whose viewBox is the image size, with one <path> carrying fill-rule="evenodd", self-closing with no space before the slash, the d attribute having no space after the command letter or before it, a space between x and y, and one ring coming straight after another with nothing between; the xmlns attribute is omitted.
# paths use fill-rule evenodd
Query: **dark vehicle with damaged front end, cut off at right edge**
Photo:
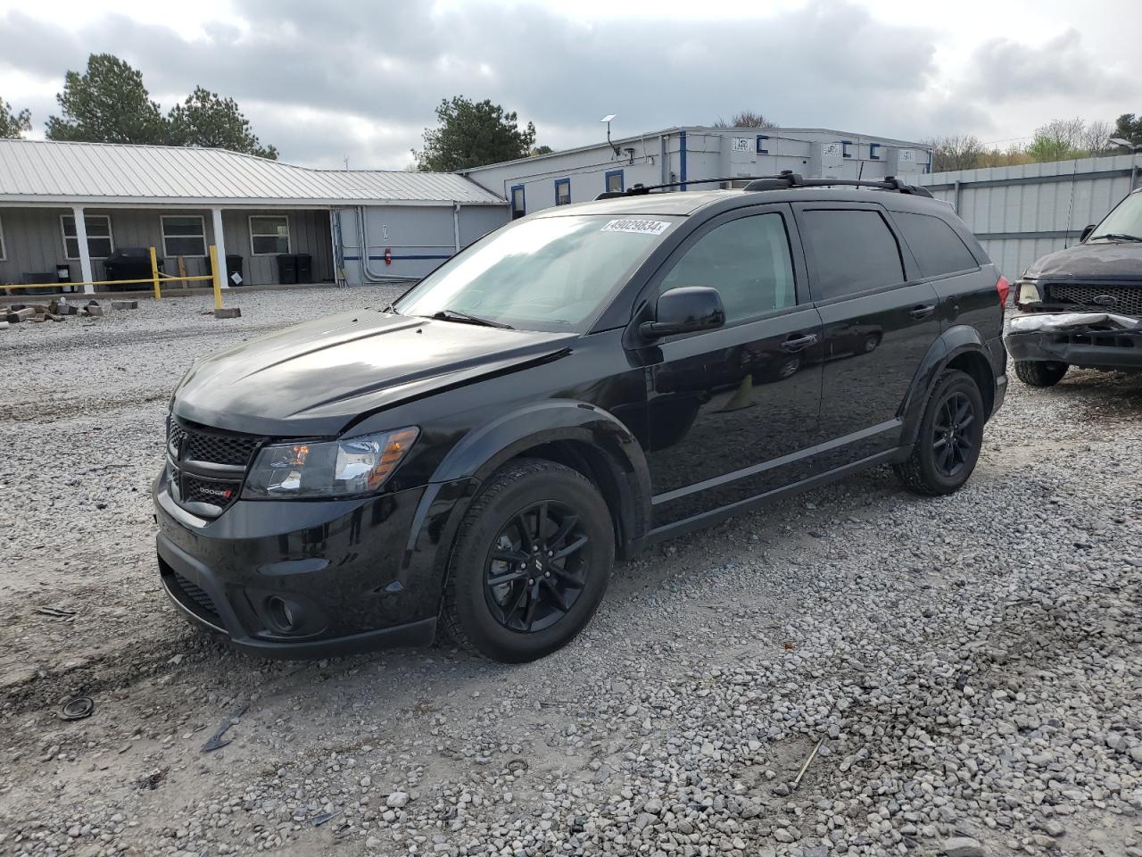
<svg viewBox="0 0 1142 857"><path fill-rule="evenodd" d="M1054 386L1071 366L1142 370L1142 189L1028 267L1015 309L1006 342L1024 384Z"/></svg>

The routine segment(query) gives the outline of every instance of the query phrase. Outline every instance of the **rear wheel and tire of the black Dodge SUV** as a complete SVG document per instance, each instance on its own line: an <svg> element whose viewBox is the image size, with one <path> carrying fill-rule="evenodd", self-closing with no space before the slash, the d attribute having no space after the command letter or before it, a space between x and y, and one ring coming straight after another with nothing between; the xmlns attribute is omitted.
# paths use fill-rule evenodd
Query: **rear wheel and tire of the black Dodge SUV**
<svg viewBox="0 0 1142 857"><path fill-rule="evenodd" d="M930 497L952 494L972 475L983 442L983 397L975 379L952 369L932 389L911 455L893 470L904 486Z"/></svg>

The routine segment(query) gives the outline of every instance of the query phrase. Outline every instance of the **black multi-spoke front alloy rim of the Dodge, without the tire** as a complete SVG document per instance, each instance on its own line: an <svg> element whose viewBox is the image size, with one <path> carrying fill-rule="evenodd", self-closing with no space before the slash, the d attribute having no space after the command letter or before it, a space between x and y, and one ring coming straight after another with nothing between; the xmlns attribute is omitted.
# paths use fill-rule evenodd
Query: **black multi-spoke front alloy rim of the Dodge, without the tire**
<svg viewBox="0 0 1142 857"><path fill-rule="evenodd" d="M534 633L562 619L582 594L590 537L566 504L540 500L520 510L492 543L484 598L496 620Z"/></svg>

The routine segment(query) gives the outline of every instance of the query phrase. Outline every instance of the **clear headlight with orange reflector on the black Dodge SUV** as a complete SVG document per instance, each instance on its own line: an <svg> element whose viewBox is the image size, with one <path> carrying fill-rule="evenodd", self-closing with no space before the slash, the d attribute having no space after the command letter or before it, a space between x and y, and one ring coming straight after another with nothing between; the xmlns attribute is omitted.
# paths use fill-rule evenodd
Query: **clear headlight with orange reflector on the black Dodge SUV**
<svg viewBox="0 0 1142 857"><path fill-rule="evenodd" d="M419 428L397 428L321 443L263 447L243 497L354 497L380 488L408 454Z"/></svg>

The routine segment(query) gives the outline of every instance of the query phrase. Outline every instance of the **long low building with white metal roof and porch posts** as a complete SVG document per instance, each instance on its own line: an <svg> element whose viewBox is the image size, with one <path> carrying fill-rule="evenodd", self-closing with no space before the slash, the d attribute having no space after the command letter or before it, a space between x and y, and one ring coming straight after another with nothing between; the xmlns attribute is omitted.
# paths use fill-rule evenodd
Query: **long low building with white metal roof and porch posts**
<svg viewBox="0 0 1142 857"><path fill-rule="evenodd" d="M55 282L57 271L99 281L116 250L147 247L166 273L193 277L208 273L210 245L232 257L244 285L281 281L279 257L299 255L299 281L415 279L506 219L502 198L453 174L0 141L0 286Z"/></svg>

